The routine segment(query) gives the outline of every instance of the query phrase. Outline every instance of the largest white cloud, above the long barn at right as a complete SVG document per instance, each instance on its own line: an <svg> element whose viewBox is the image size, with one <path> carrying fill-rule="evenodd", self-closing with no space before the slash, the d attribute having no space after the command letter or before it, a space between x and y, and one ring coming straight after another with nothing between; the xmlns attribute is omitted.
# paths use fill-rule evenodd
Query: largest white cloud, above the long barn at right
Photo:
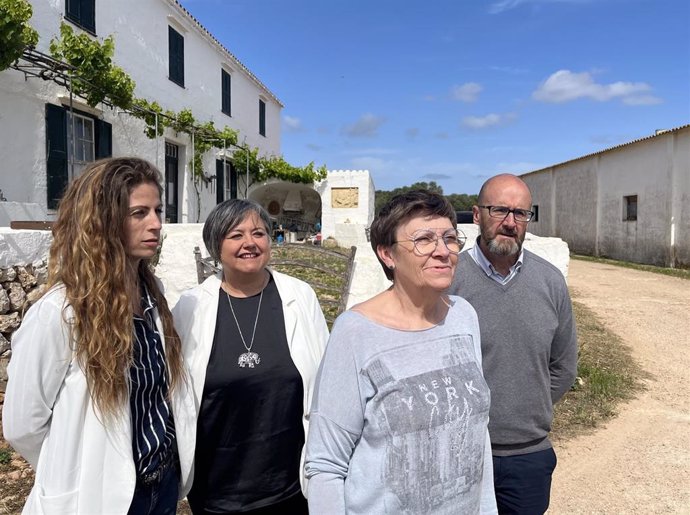
<svg viewBox="0 0 690 515"><path fill-rule="evenodd" d="M580 98L598 102L621 99L630 105L649 105L661 102L651 94L651 86L645 82L612 82L598 84L589 72L573 73L558 70L542 82L532 93L532 98L540 102L562 103Z"/></svg>

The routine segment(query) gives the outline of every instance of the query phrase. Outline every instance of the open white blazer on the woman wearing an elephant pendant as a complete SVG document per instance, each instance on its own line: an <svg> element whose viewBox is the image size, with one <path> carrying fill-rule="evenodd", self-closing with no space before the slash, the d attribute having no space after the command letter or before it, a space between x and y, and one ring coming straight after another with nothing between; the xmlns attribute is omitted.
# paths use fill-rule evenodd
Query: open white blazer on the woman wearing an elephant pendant
<svg viewBox="0 0 690 515"><path fill-rule="evenodd" d="M285 335L290 356L302 376L304 388L304 437L309 429L309 408L314 381L328 341L328 326L314 290L306 282L270 270L283 304ZM192 374L197 416L206 383L206 368L211 356L216 330L218 299L222 272L206 279L199 286L187 290L173 308L175 328L182 339L185 361ZM196 425L194 425L196 431ZM304 478L304 448L300 465L302 491L306 495Z"/></svg>

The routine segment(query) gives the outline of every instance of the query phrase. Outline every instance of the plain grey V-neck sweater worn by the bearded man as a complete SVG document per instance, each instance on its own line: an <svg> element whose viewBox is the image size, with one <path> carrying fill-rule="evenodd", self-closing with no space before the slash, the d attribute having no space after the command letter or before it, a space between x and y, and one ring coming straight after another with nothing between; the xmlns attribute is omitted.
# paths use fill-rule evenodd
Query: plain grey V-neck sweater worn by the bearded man
<svg viewBox="0 0 690 515"><path fill-rule="evenodd" d="M479 315L493 454L549 448L553 404L577 373L577 337L563 275L525 250L517 275L501 285L463 252L451 293L467 299Z"/></svg>

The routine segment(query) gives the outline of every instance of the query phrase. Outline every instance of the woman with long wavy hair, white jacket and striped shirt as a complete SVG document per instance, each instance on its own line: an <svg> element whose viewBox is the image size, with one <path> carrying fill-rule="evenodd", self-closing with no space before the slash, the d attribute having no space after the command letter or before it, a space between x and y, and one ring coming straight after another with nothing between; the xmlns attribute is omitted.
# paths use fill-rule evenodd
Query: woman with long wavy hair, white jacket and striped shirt
<svg viewBox="0 0 690 515"><path fill-rule="evenodd" d="M24 513L174 514L187 493L194 401L150 268L161 181L147 161L106 159L60 203L3 408L5 438L36 471Z"/></svg>

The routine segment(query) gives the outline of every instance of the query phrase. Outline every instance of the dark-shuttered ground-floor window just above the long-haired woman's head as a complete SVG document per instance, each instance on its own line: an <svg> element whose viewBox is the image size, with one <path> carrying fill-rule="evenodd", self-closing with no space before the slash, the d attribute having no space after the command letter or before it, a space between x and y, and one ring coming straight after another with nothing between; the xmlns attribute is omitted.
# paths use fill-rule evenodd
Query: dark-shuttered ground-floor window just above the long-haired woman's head
<svg viewBox="0 0 690 515"><path fill-rule="evenodd" d="M88 163L112 155L112 125L68 107L46 104L48 209L57 209L67 184Z"/></svg>

